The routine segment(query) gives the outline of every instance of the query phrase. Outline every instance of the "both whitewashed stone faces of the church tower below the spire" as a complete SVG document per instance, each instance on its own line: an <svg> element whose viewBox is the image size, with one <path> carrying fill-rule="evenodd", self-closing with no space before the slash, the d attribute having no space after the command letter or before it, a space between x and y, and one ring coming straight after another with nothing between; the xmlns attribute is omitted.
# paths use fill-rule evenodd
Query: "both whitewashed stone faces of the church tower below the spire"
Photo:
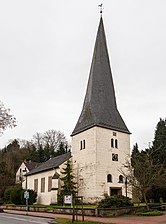
<svg viewBox="0 0 166 224"><path fill-rule="evenodd" d="M116 132L116 136L113 136ZM118 148L111 148L111 138L118 140ZM85 149L80 150L80 141L85 140ZM112 153L118 154L118 162L112 161ZM84 201L93 203L100 200L110 187L122 187L125 195L125 184L118 183L120 169L129 159L130 135L105 128L94 127L72 137L72 156L79 195ZM111 174L113 182L107 183Z"/></svg>

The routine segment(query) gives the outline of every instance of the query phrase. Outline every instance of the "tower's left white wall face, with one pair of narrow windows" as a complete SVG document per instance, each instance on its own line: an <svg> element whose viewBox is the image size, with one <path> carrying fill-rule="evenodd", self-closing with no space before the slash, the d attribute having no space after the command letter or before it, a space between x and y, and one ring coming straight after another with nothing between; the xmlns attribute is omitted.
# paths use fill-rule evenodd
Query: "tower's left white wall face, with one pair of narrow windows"
<svg viewBox="0 0 166 224"><path fill-rule="evenodd" d="M80 150L80 141L85 149ZM96 129L91 128L72 137L73 168L77 177L79 196L91 202L96 197Z"/></svg>

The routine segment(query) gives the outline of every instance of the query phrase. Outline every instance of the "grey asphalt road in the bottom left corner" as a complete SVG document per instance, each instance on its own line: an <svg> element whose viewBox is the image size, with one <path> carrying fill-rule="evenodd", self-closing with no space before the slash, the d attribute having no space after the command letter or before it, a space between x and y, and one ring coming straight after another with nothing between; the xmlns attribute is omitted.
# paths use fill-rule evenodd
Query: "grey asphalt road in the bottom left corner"
<svg viewBox="0 0 166 224"><path fill-rule="evenodd" d="M48 224L50 220L52 219L0 213L0 224Z"/></svg>

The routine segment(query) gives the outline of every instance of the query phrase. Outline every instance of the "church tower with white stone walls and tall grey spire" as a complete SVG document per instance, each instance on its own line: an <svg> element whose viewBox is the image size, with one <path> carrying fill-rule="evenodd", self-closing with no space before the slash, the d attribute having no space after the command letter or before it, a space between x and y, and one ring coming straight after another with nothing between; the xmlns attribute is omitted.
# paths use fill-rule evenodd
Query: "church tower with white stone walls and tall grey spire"
<svg viewBox="0 0 166 224"><path fill-rule="evenodd" d="M94 203L108 195L126 195L120 169L130 155L130 132L116 104L102 16L97 31L81 115L72 132L78 195Z"/></svg>

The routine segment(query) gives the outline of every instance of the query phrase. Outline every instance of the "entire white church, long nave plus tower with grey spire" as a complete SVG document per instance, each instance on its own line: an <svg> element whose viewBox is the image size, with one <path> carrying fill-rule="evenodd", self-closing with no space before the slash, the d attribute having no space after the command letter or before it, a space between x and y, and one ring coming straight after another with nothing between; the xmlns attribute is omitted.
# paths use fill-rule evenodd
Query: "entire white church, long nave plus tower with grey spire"
<svg viewBox="0 0 166 224"><path fill-rule="evenodd" d="M104 194L131 197L121 172L130 155L130 132L116 104L102 14L83 108L71 136L71 153L51 158L26 173L22 173L26 164L19 167L16 181L22 180L23 188L37 192L37 203L57 203L61 171L69 159L84 203L96 203Z"/></svg>

